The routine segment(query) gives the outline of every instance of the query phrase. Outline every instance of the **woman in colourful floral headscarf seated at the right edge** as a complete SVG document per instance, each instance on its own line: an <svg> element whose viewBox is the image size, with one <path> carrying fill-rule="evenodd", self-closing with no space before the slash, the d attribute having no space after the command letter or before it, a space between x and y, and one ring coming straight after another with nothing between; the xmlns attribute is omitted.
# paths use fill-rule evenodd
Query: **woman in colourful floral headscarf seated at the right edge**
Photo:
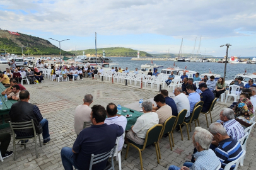
<svg viewBox="0 0 256 170"><path fill-rule="evenodd" d="M253 122L254 110L252 102L250 101L249 93L241 93L240 99L234 109L235 119L244 128L250 127Z"/></svg>

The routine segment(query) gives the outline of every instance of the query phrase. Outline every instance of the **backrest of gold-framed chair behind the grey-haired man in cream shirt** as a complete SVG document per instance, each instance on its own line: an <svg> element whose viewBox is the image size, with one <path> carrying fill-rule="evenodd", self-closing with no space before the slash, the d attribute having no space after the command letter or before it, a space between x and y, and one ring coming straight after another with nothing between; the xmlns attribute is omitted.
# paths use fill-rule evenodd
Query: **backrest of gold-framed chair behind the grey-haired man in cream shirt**
<svg viewBox="0 0 256 170"><path fill-rule="evenodd" d="M153 144L154 142L158 142L162 130L163 125L160 124L156 124L153 127L149 128L148 132L146 133L143 149L145 149L146 146Z"/></svg>

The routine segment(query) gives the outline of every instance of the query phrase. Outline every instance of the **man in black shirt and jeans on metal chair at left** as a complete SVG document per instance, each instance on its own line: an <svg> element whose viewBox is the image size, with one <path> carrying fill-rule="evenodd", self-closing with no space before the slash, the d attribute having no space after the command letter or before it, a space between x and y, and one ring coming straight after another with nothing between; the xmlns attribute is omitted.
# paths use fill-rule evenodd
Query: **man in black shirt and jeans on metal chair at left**
<svg viewBox="0 0 256 170"><path fill-rule="evenodd" d="M13 103L11 110L9 111L11 122L26 122L33 120L36 132L38 134L43 133L44 145L46 145L50 141L48 120L43 118L37 105L28 103L29 99L30 93L27 90L20 92L20 101ZM33 129L31 128L16 130L15 133L17 136L34 135Z"/></svg>

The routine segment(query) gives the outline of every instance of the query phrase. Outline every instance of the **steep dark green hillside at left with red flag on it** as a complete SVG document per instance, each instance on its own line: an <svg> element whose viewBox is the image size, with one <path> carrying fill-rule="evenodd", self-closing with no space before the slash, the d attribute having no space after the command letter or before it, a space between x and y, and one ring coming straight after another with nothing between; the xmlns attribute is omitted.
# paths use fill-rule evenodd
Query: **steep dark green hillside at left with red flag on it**
<svg viewBox="0 0 256 170"><path fill-rule="evenodd" d="M6 49L6 53L21 55L21 47L28 44L28 48L23 48L25 55L28 55L28 52L30 55L59 55L59 47L52 45L48 40L23 33L19 34L20 36L11 35L7 30L0 30L0 53L4 53L4 49ZM73 55L64 50L61 50L61 54Z"/></svg>

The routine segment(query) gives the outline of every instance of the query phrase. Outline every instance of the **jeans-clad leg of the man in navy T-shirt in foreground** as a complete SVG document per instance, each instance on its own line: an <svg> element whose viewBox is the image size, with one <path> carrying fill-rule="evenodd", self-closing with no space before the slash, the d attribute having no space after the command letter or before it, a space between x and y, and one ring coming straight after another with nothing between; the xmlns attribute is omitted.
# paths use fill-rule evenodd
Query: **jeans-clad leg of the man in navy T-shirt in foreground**
<svg viewBox="0 0 256 170"><path fill-rule="evenodd" d="M73 155L74 153L72 152L71 147L62 147L61 161L65 170L73 170L73 166L74 168L78 169L78 167L76 167L74 164Z"/></svg>

